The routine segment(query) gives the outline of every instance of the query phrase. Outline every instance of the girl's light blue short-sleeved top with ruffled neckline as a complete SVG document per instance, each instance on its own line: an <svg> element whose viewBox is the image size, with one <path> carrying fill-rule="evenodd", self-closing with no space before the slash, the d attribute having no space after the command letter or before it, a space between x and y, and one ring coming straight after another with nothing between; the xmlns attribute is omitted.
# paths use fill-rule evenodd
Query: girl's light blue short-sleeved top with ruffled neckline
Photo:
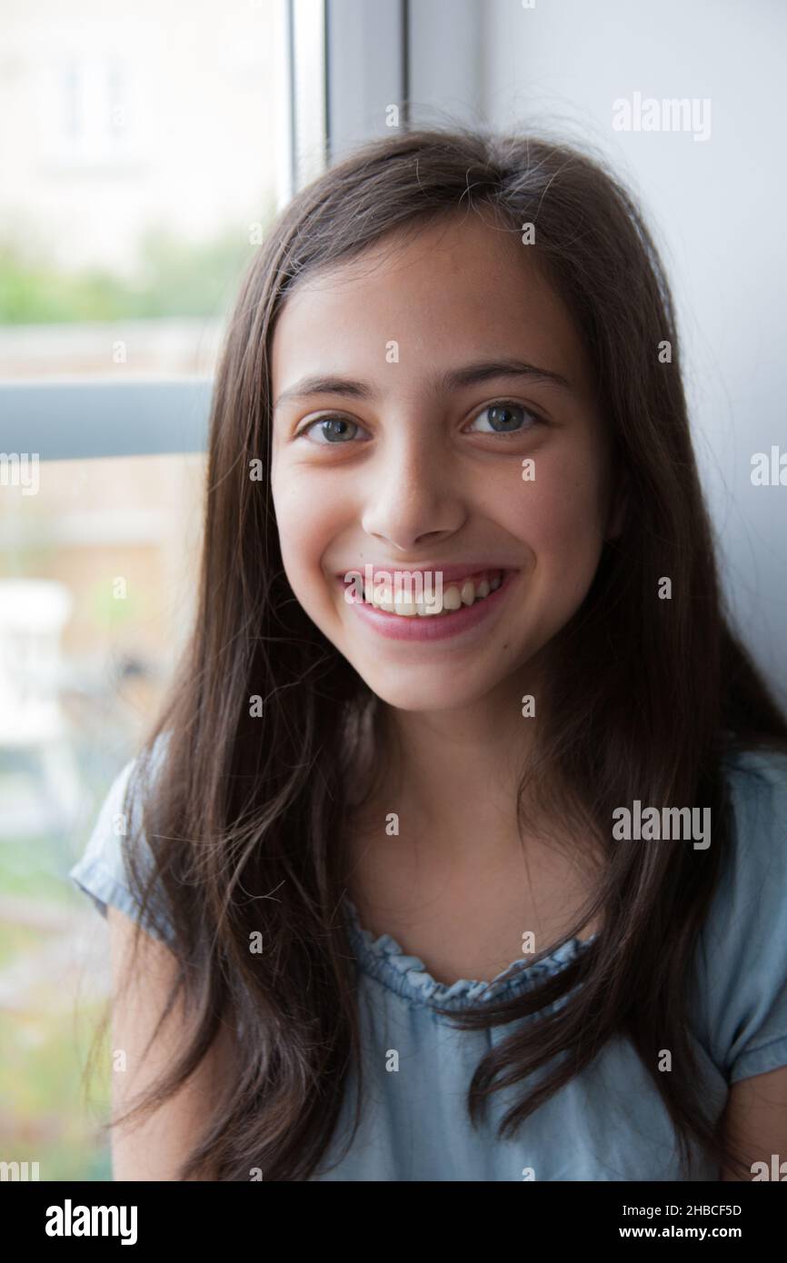
<svg viewBox="0 0 787 1263"><path fill-rule="evenodd" d="M133 760L115 779L71 870L102 914L107 903L138 914L112 829L131 767ZM747 753L730 758L729 770L734 846L701 932L691 1022L714 1119L730 1084L787 1065L787 755ZM435 981L389 935L374 938L363 930L351 904L349 914L366 1098L349 1154L326 1171L349 1134L351 1079L330 1152L313 1180L680 1180L675 1132L661 1096L620 1038L532 1114L513 1140L499 1140L495 1129L522 1085L493 1094L486 1122L474 1130L465 1104L470 1079L512 1027L456 1031L433 1005L459 1009L486 984ZM586 942L575 938L537 962L514 961L486 995L524 993L586 950ZM718 1180L719 1170L702 1161L695 1178Z"/></svg>

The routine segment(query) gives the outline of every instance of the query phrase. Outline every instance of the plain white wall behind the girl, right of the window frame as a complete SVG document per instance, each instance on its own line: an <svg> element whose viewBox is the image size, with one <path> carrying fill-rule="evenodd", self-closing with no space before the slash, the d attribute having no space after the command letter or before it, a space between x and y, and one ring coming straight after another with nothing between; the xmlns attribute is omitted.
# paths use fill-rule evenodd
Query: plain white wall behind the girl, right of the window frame
<svg viewBox="0 0 787 1263"><path fill-rule="evenodd" d="M481 10L485 120L586 138L644 202L677 303L725 587L787 695L787 486L750 482L754 452L787 452L787 4L484 0ZM710 138L613 130L613 101L637 91L710 99Z"/></svg>

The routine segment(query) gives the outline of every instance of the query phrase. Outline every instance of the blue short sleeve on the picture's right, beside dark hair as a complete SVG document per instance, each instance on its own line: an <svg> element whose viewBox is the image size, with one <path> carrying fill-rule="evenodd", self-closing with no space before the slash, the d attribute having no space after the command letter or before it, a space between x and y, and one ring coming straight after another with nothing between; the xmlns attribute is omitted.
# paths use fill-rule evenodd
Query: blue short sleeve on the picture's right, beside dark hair
<svg viewBox="0 0 787 1263"><path fill-rule="evenodd" d="M733 837L701 933L697 1010L729 1084L787 1066L787 754L728 763Z"/></svg>

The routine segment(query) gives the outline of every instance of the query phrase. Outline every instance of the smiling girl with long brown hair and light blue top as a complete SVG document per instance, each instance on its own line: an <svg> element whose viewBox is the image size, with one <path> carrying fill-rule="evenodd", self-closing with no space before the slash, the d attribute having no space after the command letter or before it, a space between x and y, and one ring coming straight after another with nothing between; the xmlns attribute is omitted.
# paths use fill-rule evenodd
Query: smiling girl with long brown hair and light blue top
<svg viewBox="0 0 787 1263"><path fill-rule="evenodd" d="M248 272L196 626L72 870L115 1178L753 1178L786 821L632 197L543 140L364 147Z"/></svg>

